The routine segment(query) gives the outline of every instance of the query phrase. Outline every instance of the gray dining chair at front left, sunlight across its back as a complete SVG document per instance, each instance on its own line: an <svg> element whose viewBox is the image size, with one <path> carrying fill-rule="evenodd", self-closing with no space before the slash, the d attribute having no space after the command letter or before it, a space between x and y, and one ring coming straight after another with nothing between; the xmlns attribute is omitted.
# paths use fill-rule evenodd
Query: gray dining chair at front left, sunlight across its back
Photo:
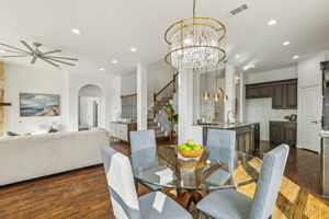
<svg viewBox="0 0 329 219"><path fill-rule="evenodd" d="M183 207L161 192L148 193L138 198L128 157L109 146L103 146L101 151L115 218L192 219Z"/></svg>

